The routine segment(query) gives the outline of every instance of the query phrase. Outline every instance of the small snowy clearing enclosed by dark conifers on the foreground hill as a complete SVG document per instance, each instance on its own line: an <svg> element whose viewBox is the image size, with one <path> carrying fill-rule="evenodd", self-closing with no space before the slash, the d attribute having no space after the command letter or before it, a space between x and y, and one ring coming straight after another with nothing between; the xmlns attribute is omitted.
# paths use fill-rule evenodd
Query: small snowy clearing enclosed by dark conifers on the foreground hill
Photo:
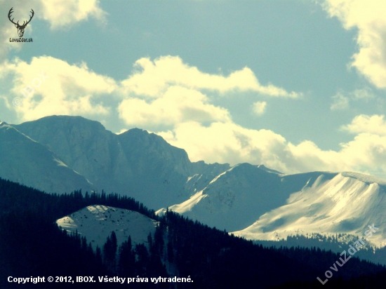
<svg viewBox="0 0 386 289"><path fill-rule="evenodd" d="M85 236L93 249L103 248L112 231L117 235L118 246L131 236L133 245L147 243L149 233L154 235L157 221L132 210L94 205L56 220L68 232L78 231Z"/></svg>

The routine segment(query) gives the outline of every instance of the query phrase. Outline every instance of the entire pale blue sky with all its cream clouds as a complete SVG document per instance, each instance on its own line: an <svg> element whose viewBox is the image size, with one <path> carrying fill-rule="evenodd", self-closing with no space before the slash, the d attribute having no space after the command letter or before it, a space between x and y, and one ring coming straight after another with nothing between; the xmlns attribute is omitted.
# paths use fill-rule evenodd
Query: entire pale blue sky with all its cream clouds
<svg viewBox="0 0 386 289"><path fill-rule="evenodd" d="M29 20L18 43L8 19ZM191 161L386 178L386 1L0 0L0 120L142 128Z"/></svg>

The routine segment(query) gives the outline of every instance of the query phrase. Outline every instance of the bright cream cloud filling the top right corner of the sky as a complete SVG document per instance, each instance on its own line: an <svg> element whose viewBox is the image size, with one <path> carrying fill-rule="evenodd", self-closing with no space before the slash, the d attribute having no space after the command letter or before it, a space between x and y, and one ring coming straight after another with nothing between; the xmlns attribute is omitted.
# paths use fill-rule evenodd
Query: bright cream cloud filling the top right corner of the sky
<svg viewBox="0 0 386 289"><path fill-rule="evenodd" d="M358 29L359 52L353 55L352 67L378 88L386 88L386 1L325 0L323 6L345 29Z"/></svg>

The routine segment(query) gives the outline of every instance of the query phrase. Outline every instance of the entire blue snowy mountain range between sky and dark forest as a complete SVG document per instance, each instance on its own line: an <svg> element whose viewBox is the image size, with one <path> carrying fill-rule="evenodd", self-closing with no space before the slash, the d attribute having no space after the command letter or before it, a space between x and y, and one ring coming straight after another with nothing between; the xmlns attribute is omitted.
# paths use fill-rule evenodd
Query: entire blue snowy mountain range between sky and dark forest
<svg viewBox="0 0 386 289"><path fill-rule="evenodd" d="M251 239L363 236L375 224L369 241L386 241L385 180L192 162L159 135L138 128L117 135L81 116L0 123L0 177L58 194L103 189L131 196L158 215L169 208Z"/></svg>

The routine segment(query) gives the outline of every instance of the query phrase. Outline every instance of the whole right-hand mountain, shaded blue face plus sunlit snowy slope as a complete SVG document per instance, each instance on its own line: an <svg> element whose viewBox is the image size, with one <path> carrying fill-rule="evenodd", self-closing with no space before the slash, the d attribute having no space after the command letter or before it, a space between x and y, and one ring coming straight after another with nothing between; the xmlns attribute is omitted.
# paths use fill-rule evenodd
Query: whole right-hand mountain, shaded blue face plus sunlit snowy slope
<svg viewBox="0 0 386 289"><path fill-rule="evenodd" d="M238 236L252 240L312 233L363 236L368 225L375 224L380 230L369 241L386 245L386 180L377 177L351 172L283 175L242 163L213 180L194 176L188 185L203 189L169 210Z"/></svg>

